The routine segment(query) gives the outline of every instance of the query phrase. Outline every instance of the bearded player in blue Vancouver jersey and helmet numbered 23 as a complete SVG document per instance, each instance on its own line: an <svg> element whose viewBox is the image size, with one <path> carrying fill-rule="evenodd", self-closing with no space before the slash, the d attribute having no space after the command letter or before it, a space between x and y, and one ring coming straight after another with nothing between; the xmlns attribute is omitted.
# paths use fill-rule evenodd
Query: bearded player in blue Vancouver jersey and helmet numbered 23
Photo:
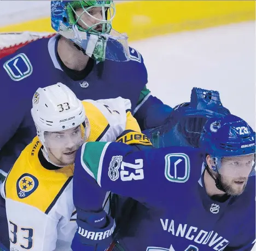
<svg viewBox="0 0 256 251"><path fill-rule="evenodd" d="M127 142L125 137L131 136L119 141ZM74 251L106 248L104 236L99 238L106 221L97 215L106 191L143 203L148 210L142 217L149 219L131 218L129 231L109 251L252 249L255 132L246 121L231 114L208 119L199 148L141 150L133 143L92 142L80 150L73 186L79 226Z"/></svg>

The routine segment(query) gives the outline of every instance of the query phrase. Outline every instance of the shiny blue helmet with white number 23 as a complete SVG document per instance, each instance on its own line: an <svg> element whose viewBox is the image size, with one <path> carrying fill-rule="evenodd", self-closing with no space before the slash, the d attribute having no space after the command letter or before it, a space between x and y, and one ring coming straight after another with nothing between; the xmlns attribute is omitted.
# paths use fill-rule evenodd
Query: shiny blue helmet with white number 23
<svg viewBox="0 0 256 251"><path fill-rule="evenodd" d="M206 155L210 155L214 163L212 169L218 173L224 157L254 155L250 175L255 174L255 132L238 116L208 119L201 133L200 148L206 166Z"/></svg>

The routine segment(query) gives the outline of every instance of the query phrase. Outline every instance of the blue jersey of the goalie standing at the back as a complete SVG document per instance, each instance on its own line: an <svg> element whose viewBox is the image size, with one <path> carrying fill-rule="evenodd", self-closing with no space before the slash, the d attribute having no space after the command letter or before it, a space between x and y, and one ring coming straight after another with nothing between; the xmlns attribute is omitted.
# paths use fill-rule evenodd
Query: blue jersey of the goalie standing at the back
<svg viewBox="0 0 256 251"><path fill-rule="evenodd" d="M38 87L61 82L80 100L120 96L129 99L134 110L147 84L143 58L134 49L131 49L130 61L97 63L91 60L93 68L85 78L78 79L81 73L77 79L68 77L57 55L58 39L59 36L38 39L0 60L0 166L5 172L36 136L30 110Z"/></svg>

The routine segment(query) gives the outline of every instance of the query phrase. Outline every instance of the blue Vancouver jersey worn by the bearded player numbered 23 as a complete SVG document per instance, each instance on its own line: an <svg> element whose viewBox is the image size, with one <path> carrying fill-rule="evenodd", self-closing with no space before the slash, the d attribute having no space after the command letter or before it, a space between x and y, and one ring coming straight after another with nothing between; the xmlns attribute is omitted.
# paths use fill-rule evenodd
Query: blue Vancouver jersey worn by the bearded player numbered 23
<svg viewBox="0 0 256 251"><path fill-rule="evenodd" d="M129 227L121 230L118 241L125 251L252 249L255 177L249 177L242 195L220 202L206 194L203 159L195 148L134 151L122 143L89 142L78 155L73 187L77 209L99 210L106 191L132 197L147 208L143 215L123 219Z"/></svg>

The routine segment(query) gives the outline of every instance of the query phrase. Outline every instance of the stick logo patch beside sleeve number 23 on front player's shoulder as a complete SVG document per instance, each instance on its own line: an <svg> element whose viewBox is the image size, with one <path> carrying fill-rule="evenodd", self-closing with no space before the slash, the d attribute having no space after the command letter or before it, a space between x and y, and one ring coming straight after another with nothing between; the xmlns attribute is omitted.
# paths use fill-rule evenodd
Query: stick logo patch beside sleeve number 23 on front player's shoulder
<svg viewBox="0 0 256 251"><path fill-rule="evenodd" d="M165 178L170 182L185 183L189 179L189 156L183 153L165 155Z"/></svg>

